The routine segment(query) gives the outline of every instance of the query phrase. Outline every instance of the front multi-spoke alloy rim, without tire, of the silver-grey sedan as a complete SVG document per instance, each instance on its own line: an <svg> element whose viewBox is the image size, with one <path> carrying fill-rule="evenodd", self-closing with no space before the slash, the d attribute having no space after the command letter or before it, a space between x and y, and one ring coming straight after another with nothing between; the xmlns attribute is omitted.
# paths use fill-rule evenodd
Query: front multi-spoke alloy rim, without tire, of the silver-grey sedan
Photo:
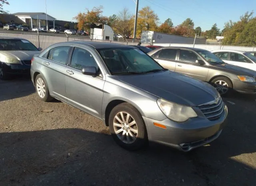
<svg viewBox="0 0 256 186"><path fill-rule="evenodd" d="M114 117L114 131L118 138L126 143L132 144L138 137L138 126L134 118L127 112L118 112Z"/></svg>

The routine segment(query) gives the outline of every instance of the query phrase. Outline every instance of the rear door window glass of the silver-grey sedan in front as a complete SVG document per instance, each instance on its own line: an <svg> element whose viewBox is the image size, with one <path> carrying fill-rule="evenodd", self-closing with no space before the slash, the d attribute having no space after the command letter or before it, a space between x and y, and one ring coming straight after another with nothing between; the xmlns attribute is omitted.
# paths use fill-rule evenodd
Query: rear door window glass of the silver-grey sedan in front
<svg viewBox="0 0 256 186"><path fill-rule="evenodd" d="M57 46L49 51L48 59L59 62L61 64L67 64L68 52L70 46Z"/></svg>

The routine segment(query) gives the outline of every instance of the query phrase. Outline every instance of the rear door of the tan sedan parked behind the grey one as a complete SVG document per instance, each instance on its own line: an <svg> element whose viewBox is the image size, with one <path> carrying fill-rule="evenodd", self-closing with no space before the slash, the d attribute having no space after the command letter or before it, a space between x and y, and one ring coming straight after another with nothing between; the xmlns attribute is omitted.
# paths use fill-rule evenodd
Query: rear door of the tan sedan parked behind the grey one
<svg viewBox="0 0 256 186"><path fill-rule="evenodd" d="M175 48L165 48L153 54L154 60L156 60L161 66L168 70L174 71L177 60L177 51Z"/></svg>

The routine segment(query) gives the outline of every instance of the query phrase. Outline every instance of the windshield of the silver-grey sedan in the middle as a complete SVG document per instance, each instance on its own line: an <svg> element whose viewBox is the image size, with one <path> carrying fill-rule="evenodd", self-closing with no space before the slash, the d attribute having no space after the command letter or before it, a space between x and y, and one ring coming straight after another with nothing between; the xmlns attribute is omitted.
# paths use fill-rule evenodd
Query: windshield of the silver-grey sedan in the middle
<svg viewBox="0 0 256 186"><path fill-rule="evenodd" d="M145 74L165 71L162 66L139 49L98 49L111 74Z"/></svg>

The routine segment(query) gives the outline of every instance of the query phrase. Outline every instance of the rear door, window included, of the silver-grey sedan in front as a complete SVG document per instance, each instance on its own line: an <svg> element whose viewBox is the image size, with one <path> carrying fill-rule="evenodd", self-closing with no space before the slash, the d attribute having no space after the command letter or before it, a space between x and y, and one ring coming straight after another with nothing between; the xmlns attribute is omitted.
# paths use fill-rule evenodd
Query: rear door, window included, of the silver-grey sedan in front
<svg viewBox="0 0 256 186"><path fill-rule="evenodd" d="M47 58L42 62L42 72L50 94L66 100L65 68L70 55L70 46L57 46L48 52Z"/></svg>

